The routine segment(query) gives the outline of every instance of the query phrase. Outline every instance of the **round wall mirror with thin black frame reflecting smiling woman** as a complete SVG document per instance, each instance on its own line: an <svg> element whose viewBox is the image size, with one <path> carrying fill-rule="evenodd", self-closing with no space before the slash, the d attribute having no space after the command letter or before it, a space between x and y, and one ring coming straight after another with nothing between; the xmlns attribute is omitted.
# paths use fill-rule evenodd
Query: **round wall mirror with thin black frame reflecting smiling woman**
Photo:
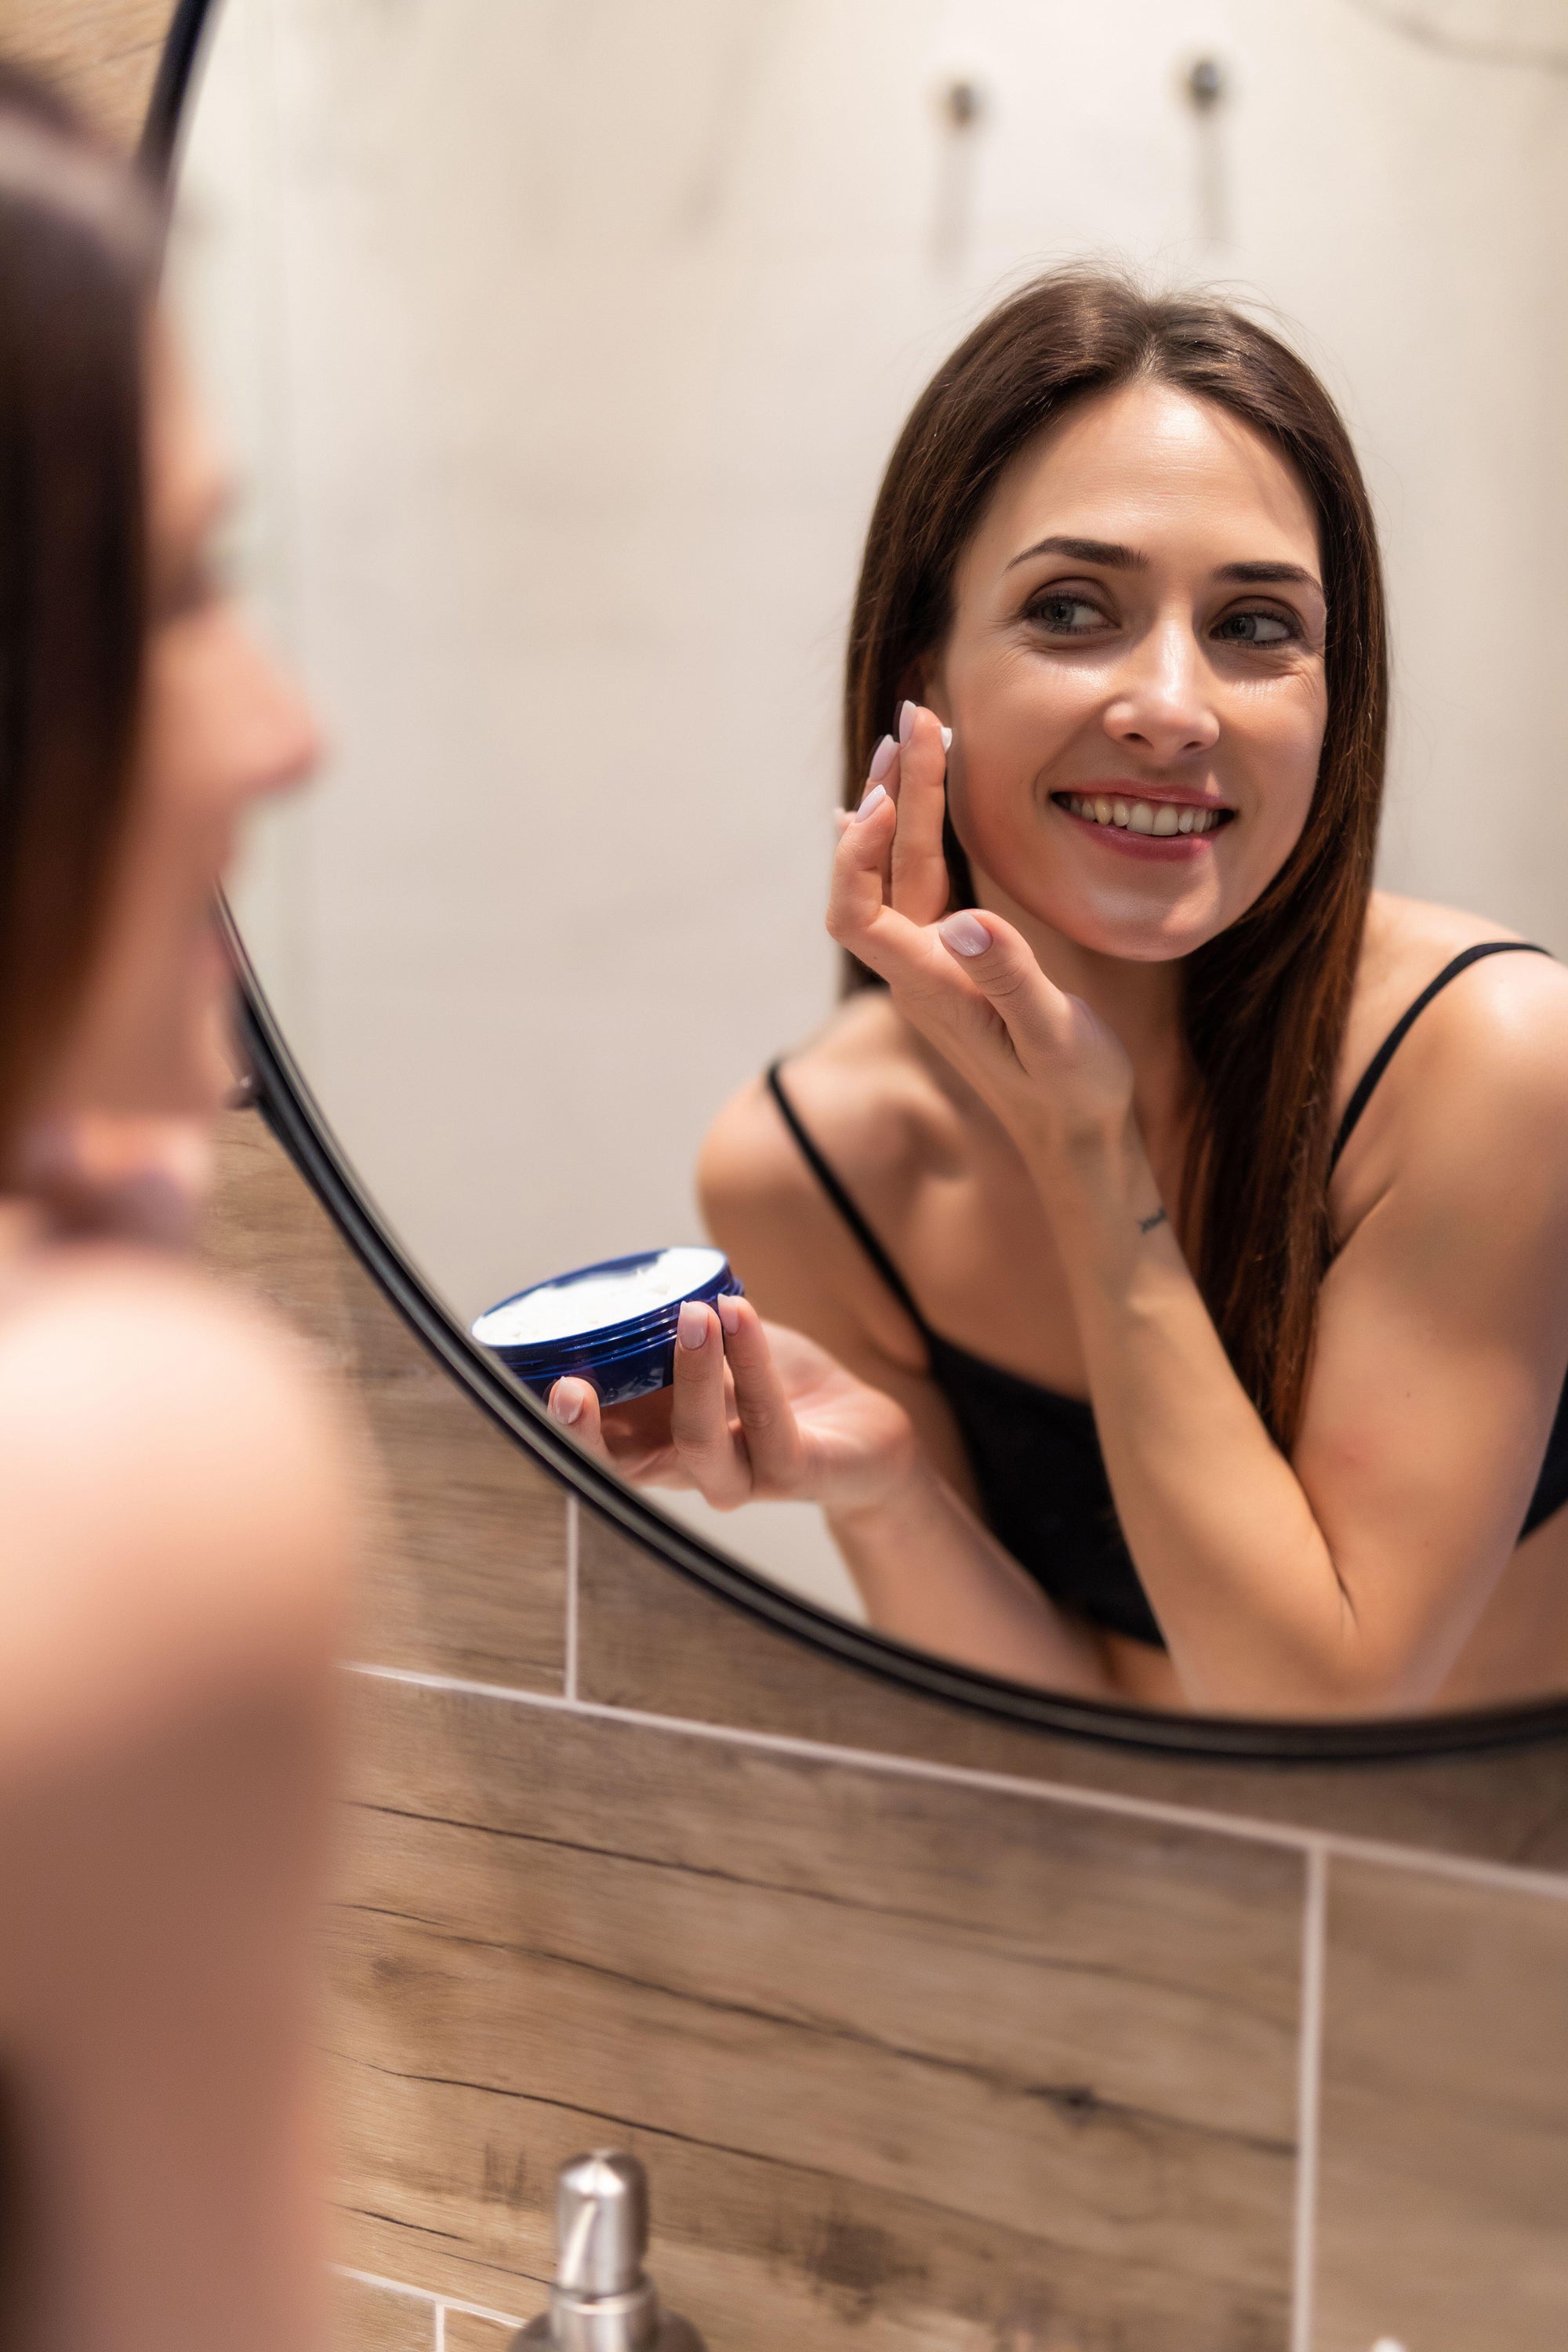
<svg viewBox="0 0 1568 2352"><path fill-rule="evenodd" d="M1488 1023L1559 1018L1547 957L1467 957L1568 950L1568 165L1540 75L1396 16L212 0L179 19L150 125L172 299L235 461L240 593L327 746L230 906L277 1131L454 1376L672 1566L905 1682L1154 1745L1519 1738L1561 1729L1568 1689L1568 1510L1547 1491L1561 1470L1568 1496L1568 1282L1479 1242L1509 1221L1549 1237L1549 1171L1488 1214L1462 1167L1453 1214L1441 1171L1410 1211L1394 1171L1403 1143L1427 1167L1432 1091ZM1194 390L1178 346L1199 329L1159 308L1175 292L1201 332L1239 322L1229 405ZM1027 358L1034 318L1058 367L1030 430L976 358L1009 299L1009 350ZM1100 320L1093 365L1133 329L1164 358L1084 390L1067 310L1079 339ZM1378 1091L1321 1230L1291 1211L1321 1249L1307 1338L1251 1308L1220 1331L1204 1275L1248 1183L1269 1247L1288 1223L1237 1103L1260 1136L1295 1103L1331 1181L1328 1110L1305 1080L1269 1091L1286 1014L1244 1014L1258 957L1225 967L1227 1004L1204 955L1295 873L1333 727L1375 717L1366 677L1345 684L1345 487L1307 477L1300 419L1260 421L1281 348L1345 419L1394 654L1333 1124L1373 1065ZM945 475L922 456L938 426ZM1039 741L997 750L1004 722ZM851 802L877 760L896 786L870 863L889 816L846 818L846 743ZM987 800L1009 757L1039 851L1006 849ZM1345 800L1335 875L1356 823ZM922 906L898 898L905 856ZM1060 891L1084 875L1079 922ZM926 1025L914 964L867 960L867 889L898 955L947 957ZM1147 943L1154 898L1180 953ZM1053 1030L1020 1044L1006 985L933 946L945 910L1006 917L1041 969L1067 938L1025 1011L1056 1018L1093 964L1100 1061ZM1164 997L1143 985L1159 955ZM1119 997L1105 974L1140 960ZM1185 964L1211 974L1201 1049ZM1453 995L1380 1054L1441 974ZM1065 1129L1037 1164L992 1065L943 1028L971 1014L1067 1103L1058 1129L1095 1070L1112 1091L1133 1073L1135 1232L1112 1247L1060 1209L1041 1167ZM1244 1016L1251 1077L1220 1077ZM1168 1049L1145 1051L1150 1023ZM1519 1131L1535 1117L1549 1162L1526 1065ZM1206 1195L1182 1160L1201 1134ZM1420 1221L1448 1214L1439 1247ZM1154 1343L1140 1357L1084 1301L1121 1284L1133 1312L1145 1263L1178 1369L1138 1388ZM559 1287L581 1268L590 1296ZM745 1305L719 1312L731 1275ZM675 1388L618 1397L597 1338L635 1324L663 1383L693 1289L708 1388L682 1362ZM482 1324L494 1345L473 1336L520 1294ZM1265 1341L1295 1348L1295 1402L1246 1355ZM795 1454L766 1451L780 1421ZM738 1498L736 1461L769 1491Z"/></svg>

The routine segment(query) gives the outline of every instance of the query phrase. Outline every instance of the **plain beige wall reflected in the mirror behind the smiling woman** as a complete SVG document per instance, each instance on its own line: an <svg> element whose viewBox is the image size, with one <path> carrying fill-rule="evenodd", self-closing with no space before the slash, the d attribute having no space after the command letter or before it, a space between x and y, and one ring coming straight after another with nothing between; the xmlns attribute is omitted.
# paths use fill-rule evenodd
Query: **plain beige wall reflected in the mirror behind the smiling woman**
<svg viewBox="0 0 1568 2352"><path fill-rule="evenodd" d="M1389 550L1387 877L1568 948L1566 132L1566 75L1349 0L228 0L193 327L336 741L244 920L461 1315L686 1237L705 1120L830 1004L870 496L1046 261L1324 367Z"/></svg>

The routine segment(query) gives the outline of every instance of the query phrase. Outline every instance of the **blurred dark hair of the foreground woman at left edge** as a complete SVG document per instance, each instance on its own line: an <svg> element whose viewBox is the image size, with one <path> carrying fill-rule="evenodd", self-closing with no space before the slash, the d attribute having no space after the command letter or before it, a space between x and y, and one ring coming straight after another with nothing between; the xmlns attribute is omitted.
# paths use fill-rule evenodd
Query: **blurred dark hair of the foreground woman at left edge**
<svg viewBox="0 0 1568 2352"><path fill-rule="evenodd" d="M146 630L150 191L0 61L0 1160L78 1007Z"/></svg>

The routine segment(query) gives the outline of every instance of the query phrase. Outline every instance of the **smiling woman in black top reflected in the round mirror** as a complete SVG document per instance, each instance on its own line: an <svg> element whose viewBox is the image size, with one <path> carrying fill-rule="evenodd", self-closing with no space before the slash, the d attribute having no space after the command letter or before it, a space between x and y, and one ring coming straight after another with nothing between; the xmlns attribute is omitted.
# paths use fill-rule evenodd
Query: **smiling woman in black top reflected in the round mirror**
<svg viewBox="0 0 1568 2352"><path fill-rule="evenodd" d="M1086 1696L1561 1677L1568 976L1373 891L1385 724L1312 372L1107 278L985 320L851 626L830 929L884 985L703 1152L785 1329L689 1310L611 1451L816 1496L875 1625Z"/></svg>

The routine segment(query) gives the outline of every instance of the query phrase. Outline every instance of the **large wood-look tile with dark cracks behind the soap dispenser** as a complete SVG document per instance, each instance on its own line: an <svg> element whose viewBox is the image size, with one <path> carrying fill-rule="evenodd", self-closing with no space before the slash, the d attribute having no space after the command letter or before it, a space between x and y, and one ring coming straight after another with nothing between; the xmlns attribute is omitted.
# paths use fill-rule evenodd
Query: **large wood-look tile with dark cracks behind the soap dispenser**
<svg viewBox="0 0 1568 2352"><path fill-rule="evenodd" d="M1286 2343L1300 1863L364 1682L348 2258L536 2307L644 2152L710 2345Z"/></svg>

